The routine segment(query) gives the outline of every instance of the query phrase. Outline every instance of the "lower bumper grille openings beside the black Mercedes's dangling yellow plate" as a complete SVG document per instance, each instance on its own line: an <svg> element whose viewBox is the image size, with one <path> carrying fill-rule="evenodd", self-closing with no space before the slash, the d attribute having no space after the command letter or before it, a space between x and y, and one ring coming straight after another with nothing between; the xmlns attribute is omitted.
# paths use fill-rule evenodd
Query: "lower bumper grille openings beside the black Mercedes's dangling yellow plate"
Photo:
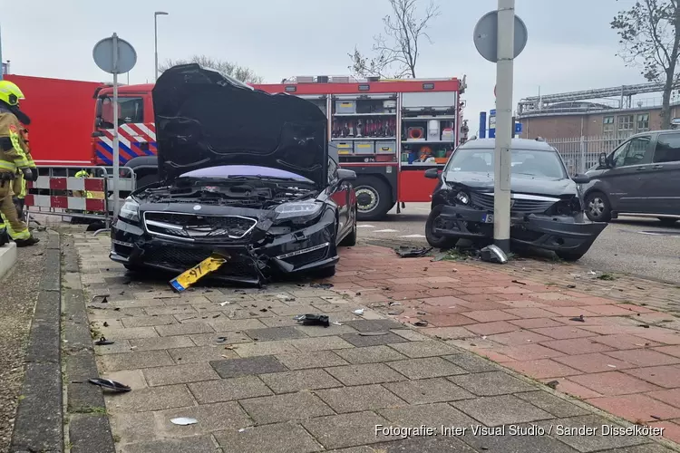
<svg viewBox="0 0 680 453"><path fill-rule="evenodd" d="M144 253L144 262L150 265L162 265L176 268L189 269L198 265L201 261L212 255L208 248L185 248L163 246L147 250ZM227 262L219 267L215 275L255 276L257 268L255 262L248 257L239 255L229 256Z"/></svg>

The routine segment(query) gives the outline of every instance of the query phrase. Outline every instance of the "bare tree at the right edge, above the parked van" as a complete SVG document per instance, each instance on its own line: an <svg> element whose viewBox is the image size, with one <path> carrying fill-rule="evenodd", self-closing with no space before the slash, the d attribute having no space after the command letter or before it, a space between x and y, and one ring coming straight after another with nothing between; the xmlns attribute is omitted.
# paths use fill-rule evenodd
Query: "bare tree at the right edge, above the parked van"
<svg viewBox="0 0 680 453"><path fill-rule="evenodd" d="M649 82L663 82L661 127L671 126L670 100L677 81L680 51L680 0L638 0L611 22L620 38L618 55L642 69Z"/></svg>

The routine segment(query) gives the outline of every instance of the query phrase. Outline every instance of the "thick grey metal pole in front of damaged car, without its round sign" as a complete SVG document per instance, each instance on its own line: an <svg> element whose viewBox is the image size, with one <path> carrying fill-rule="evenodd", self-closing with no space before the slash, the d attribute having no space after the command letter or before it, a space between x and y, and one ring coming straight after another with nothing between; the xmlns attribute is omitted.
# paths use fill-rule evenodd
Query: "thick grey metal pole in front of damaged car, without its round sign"
<svg viewBox="0 0 680 453"><path fill-rule="evenodd" d="M515 0L498 0L493 243L505 253L510 252L510 160L514 129L514 124L512 124L514 42Z"/></svg>

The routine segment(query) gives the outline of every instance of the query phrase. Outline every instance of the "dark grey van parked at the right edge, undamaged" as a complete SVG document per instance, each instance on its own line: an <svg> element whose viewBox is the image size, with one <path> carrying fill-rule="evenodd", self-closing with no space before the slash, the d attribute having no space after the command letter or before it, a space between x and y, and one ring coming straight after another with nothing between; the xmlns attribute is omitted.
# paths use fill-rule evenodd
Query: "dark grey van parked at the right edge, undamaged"
<svg viewBox="0 0 680 453"><path fill-rule="evenodd" d="M680 218L680 130L632 136L602 153L583 194L588 218L656 217L670 226Z"/></svg>

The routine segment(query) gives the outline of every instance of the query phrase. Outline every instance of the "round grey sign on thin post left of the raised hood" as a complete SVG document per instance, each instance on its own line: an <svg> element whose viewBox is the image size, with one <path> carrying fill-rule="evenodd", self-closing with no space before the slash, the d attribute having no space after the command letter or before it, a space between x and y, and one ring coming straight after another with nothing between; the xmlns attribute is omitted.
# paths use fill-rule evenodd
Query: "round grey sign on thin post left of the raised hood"
<svg viewBox="0 0 680 453"><path fill-rule="evenodd" d="M94 44L92 58L102 71L113 74L113 217L116 217L121 204L119 191L121 151L118 137L118 74L131 71L137 63L137 53L130 43L119 38L118 34L113 34L112 37L104 38L99 43Z"/></svg>

